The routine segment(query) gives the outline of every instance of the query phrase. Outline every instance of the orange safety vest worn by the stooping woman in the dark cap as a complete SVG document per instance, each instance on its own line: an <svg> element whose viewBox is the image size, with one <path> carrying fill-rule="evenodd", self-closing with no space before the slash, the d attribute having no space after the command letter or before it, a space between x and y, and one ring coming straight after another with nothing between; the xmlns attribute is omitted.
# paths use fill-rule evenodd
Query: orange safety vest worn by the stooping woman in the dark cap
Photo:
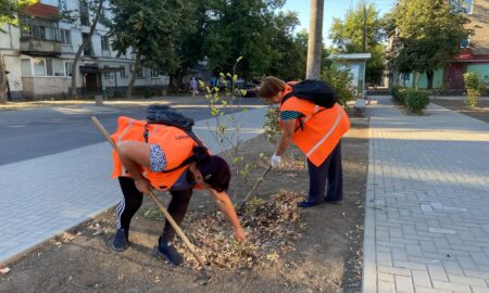
<svg viewBox="0 0 489 293"><path fill-rule="evenodd" d="M126 140L146 142L143 137L146 124L145 120L120 116L117 119L117 129L111 138L115 143ZM166 169L168 170L178 167L186 158L190 157L193 146L198 145L184 130L162 124L148 125L148 143L156 143L160 145L165 154ZM115 150L112 153L112 157L114 161L112 178L130 176L126 170L123 170L124 166ZM170 173L152 173L149 168L142 167L142 171L143 176L155 189L168 190L187 168L188 165Z"/></svg>

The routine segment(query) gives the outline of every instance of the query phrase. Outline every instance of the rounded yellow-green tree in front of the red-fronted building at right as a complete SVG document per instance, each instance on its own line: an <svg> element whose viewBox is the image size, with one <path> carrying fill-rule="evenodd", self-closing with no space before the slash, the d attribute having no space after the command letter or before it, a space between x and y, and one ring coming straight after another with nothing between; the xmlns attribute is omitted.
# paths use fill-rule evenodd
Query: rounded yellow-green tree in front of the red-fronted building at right
<svg viewBox="0 0 489 293"><path fill-rule="evenodd" d="M454 3L454 1L450 1ZM472 29L460 5L443 0L400 0L388 20L393 37L393 65L403 73L426 73L428 89L434 73L460 52Z"/></svg>

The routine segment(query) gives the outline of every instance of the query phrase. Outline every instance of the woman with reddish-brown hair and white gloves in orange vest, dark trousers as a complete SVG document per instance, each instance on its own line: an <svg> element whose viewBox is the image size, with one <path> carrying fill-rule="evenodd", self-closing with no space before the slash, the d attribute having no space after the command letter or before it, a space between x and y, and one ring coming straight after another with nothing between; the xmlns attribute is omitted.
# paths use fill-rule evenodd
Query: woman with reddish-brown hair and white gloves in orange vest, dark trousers
<svg viewBox="0 0 489 293"><path fill-rule="evenodd" d="M342 200L341 137L350 128L347 113L339 104L326 109L294 95L281 103L290 92L291 85L273 76L264 78L260 88L263 99L280 104L281 138L272 156L272 166L280 164L281 155L293 141L308 158L310 178L309 198L298 206L339 203Z"/></svg>

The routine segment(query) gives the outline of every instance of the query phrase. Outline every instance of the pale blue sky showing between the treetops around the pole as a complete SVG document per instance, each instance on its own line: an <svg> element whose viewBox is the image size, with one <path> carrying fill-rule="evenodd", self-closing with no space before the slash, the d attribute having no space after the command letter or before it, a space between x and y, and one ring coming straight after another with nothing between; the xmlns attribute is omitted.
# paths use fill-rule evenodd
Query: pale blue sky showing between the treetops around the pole
<svg viewBox="0 0 489 293"><path fill-rule="evenodd" d="M333 24L333 17L343 18L347 11L350 8L358 5L360 0L324 0L324 23L323 23L323 38L326 46L331 44L331 40L328 38L329 28ZM380 12L379 15L388 12L396 0L365 0L366 3L374 3L377 10ZM296 11L299 14L299 21L301 24L297 27L297 31L302 30L302 28L309 31L309 21L311 13L311 1L310 0L287 0L283 10Z"/></svg>

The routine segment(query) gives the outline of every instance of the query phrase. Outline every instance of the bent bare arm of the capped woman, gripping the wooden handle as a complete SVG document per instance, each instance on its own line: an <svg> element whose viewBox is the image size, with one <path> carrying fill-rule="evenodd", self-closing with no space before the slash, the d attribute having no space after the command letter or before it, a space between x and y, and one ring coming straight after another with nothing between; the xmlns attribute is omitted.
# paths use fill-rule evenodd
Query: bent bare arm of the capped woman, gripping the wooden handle
<svg viewBox="0 0 489 293"><path fill-rule="evenodd" d="M135 180L136 188L148 193L151 184L141 174L141 166L150 165L150 144L138 141L123 141L117 143L117 153L121 163Z"/></svg>

